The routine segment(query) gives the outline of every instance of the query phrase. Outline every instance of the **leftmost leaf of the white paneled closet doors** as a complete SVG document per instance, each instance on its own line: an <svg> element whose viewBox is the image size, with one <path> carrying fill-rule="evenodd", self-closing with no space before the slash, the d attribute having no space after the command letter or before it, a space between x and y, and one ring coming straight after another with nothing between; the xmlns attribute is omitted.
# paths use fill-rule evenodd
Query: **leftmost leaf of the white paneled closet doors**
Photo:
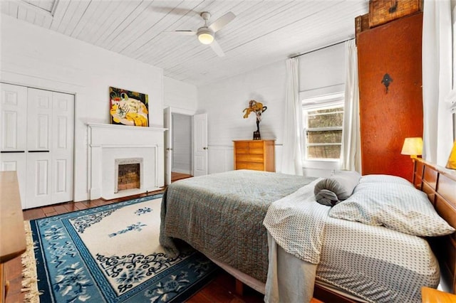
<svg viewBox="0 0 456 303"><path fill-rule="evenodd" d="M0 93L0 171L17 171L25 208L27 87L0 83Z"/></svg>

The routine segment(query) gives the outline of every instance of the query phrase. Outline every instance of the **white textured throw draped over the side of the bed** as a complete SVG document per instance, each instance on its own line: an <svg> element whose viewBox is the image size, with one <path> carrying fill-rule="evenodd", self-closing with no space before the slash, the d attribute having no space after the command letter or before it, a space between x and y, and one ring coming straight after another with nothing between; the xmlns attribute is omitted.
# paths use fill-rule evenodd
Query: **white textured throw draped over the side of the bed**
<svg viewBox="0 0 456 303"><path fill-rule="evenodd" d="M269 245L265 302L311 300L330 210L315 201L314 186L318 181L269 206L263 222Z"/></svg>

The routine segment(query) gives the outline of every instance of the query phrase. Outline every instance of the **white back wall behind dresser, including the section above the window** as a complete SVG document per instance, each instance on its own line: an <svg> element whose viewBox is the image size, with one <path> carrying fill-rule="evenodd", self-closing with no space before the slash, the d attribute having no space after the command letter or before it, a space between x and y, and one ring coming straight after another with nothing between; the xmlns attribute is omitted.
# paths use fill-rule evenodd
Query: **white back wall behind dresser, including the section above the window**
<svg viewBox="0 0 456 303"><path fill-rule="evenodd" d="M345 47L338 44L299 57L303 95L324 95L343 90ZM243 119L249 100L268 107L260 123L261 138L276 139L276 171L281 171L284 133L285 62L198 87L198 112L208 114L209 174L233 169L234 139L252 139L256 119ZM312 171L314 172L314 171ZM317 175L330 174L326 168Z"/></svg>

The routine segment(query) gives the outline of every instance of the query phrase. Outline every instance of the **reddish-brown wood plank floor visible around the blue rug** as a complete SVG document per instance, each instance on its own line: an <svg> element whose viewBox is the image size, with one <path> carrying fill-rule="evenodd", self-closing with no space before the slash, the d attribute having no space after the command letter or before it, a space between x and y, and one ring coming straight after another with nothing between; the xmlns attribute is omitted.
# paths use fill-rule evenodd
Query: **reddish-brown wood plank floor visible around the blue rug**
<svg viewBox="0 0 456 303"><path fill-rule="evenodd" d="M190 175L184 174L173 174L173 180L184 179L191 177ZM152 195L160 193L161 191L155 191L148 193ZM142 194L133 198L147 196ZM48 216L55 216L61 213L68 213L71 211L78 211L86 208L93 208L97 206L103 206L111 203L118 203L120 201L128 200L128 198L119 198L110 201L104 201L102 199L83 201L83 202L68 202L61 203L52 206L45 206L41 208L33 208L24 211L24 220L33 220L38 218L44 218ZM10 287L9 292L6 295L6 303L24 302L24 293L21 292L21 257L16 257L5 264L6 268L6 280L9 280ZM244 294L241 296L235 292L235 280L232 276L228 275L223 270L220 270L219 274L209 282L203 289L197 294L191 297L187 302L192 303L213 303L213 302L229 302L229 303L242 303L242 302L263 302L263 295L259 292L244 287Z"/></svg>

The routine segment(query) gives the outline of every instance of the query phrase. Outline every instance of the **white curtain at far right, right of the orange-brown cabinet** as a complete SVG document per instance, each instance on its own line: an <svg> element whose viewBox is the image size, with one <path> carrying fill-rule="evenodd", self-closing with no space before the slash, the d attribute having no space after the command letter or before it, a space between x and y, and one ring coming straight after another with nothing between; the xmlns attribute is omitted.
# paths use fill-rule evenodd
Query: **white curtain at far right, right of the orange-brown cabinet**
<svg viewBox="0 0 456 303"><path fill-rule="evenodd" d="M423 159L445 166L452 148L452 114L445 102L452 87L450 0L423 8Z"/></svg>

